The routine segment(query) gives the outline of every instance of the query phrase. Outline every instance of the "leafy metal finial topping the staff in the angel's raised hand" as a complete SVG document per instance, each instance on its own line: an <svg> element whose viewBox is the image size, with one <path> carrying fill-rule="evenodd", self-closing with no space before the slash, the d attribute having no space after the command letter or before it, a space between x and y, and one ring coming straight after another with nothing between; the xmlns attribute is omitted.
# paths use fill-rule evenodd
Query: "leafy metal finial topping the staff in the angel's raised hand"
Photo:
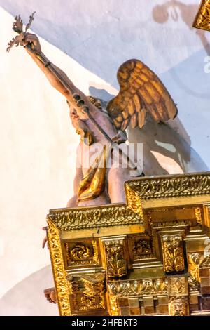
<svg viewBox="0 0 210 330"><path fill-rule="evenodd" d="M16 47L20 45L22 45L22 41L25 37L25 33L27 32L27 30L31 27L31 23L34 20L34 14L36 13L36 11L34 11L34 13L32 13L29 17L29 22L25 28L25 32L23 31L22 27L23 27L23 23L22 23L22 19L20 17L20 15L15 16L15 22L13 22L13 30L17 33L19 33L18 36L16 36L15 38L13 38L12 40L10 40L8 42L8 47L6 48L6 51L10 51L10 49L15 45Z"/></svg>

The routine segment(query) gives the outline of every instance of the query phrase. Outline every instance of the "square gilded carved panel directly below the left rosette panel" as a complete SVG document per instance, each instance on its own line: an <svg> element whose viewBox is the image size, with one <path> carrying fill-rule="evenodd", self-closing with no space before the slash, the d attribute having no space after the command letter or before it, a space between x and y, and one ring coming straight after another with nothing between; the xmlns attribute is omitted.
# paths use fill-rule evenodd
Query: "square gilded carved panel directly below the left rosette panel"
<svg viewBox="0 0 210 330"><path fill-rule="evenodd" d="M72 309L74 312L90 312L104 310L105 302L105 274L69 275L72 295Z"/></svg>

